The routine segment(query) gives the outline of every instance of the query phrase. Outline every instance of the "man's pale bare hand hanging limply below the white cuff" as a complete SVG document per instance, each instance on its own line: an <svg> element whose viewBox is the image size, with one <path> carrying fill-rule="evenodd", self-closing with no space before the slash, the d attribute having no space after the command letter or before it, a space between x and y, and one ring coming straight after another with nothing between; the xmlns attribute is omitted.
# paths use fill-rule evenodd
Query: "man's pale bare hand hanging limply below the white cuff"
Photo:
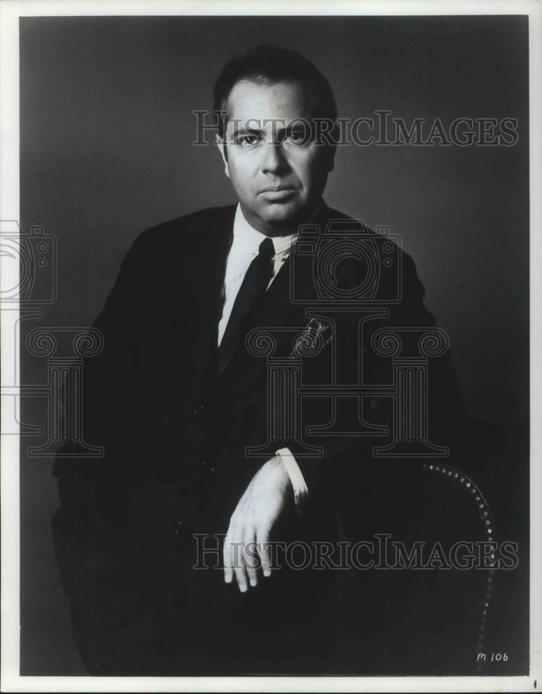
<svg viewBox="0 0 542 694"><path fill-rule="evenodd" d="M269 534L289 505L294 505L290 478L282 458L276 455L254 475L230 518L224 540L226 583L232 582L235 573L239 590L244 593L248 590L248 573L251 586L257 584L256 551L264 576L271 575Z"/></svg>

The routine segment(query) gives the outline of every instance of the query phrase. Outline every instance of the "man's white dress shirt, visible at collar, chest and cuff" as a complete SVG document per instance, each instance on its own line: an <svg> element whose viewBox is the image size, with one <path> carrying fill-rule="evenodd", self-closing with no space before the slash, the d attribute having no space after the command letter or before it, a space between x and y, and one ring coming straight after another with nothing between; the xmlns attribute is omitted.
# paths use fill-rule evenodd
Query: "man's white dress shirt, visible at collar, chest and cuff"
<svg viewBox="0 0 542 694"><path fill-rule="evenodd" d="M273 256L275 264L273 266L273 277L269 280L269 285L267 285L268 289L289 256L291 244L294 243L296 237L296 234L290 234L288 236L279 236L271 239L275 248L275 255ZM228 253L228 259L226 260L224 304L222 316L219 321L219 345L226 331L226 325L228 325L235 298L241 288L248 266L258 253L260 253L260 244L264 238L265 236L262 232L256 230L246 221L241 205L238 204L237 210L235 211L235 220L233 222L233 241L230 252ZM309 492L303 473L301 473L296 459L288 448L281 448L276 451L276 453L282 458L282 462L290 477L291 486L294 489L296 509L300 511L301 505L306 500Z"/></svg>

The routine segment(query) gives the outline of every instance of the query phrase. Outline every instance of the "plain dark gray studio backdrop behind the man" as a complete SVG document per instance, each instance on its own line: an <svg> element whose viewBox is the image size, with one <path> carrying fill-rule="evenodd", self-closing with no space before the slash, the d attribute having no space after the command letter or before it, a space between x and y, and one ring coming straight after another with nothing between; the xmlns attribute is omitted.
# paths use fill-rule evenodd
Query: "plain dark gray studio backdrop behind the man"
<svg viewBox="0 0 542 694"><path fill-rule="evenodd" d="M192 146L192 110L211 108L232 53L278 44L320 67L340 117L518 119L513 147L339 148L325 200L402 237L471 413L525 427L526 441L527 32L527 17L21 19L21 222L58 243L58 300L39 325L90 325L141 230L234 201L216 148ZM24 381L44 382L43 361L23 359ZM23 409L44 420L41 400ZM25 450L22 672L76 673L52 556L51 462Z"/></svg>

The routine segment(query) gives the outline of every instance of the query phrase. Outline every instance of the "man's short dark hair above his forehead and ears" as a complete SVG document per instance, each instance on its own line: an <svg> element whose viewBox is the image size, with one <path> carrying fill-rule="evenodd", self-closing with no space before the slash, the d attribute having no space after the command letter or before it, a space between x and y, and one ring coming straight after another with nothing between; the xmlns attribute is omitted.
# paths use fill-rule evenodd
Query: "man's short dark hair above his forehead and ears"
<svg viewBox="0 0 542 694"><path fill-rule="evenodd" d="M300 82L305 87L312 118L337 120L337 105L330 83L321 71L296 51L276 46L257 46L231 58L214 83L214 113L219 135L223 137L228 122L228 97L242 80L272 85L278 82Z"/></svg>

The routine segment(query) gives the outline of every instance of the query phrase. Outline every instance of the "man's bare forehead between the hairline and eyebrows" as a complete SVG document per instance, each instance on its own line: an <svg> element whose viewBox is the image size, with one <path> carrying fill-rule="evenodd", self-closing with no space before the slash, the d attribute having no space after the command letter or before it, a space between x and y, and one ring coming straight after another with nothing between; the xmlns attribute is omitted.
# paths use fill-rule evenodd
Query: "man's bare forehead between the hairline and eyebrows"
<svg viewBox="0 0 542 694"><path fill-rule="evenodd" d="M242 80L228 97L228 116L238 124L250 119L291 121L309 117L303 85L294 81L262 84Z"/></svg>

